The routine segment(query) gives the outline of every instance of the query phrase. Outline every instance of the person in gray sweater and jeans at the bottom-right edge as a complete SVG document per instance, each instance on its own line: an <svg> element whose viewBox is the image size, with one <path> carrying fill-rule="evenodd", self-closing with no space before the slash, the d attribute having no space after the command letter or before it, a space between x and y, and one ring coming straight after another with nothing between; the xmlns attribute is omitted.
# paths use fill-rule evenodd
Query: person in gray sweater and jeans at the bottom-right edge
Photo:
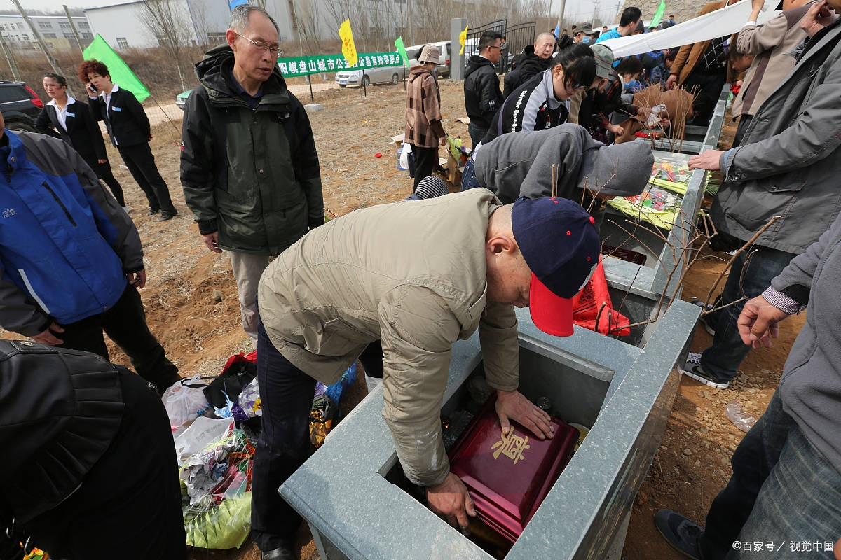
<svg viewBox="0 0 841 560"><path fill-rule="evenodd" d="M754 348L769 347L785 317L805 309L807 321L768 410L733 453L733 476L713 500L706 529L674 511L660 510L654 517L659 531L680 552L705 560L754 558L755 545L768 550L773 539L774 557L793 557L795 552L833 557L832 542L841 535L839 290L837 218L761 296L744 304L738 331L742 342ZM748 542L752 550L743 547ZM803 542L810 549L804 551Z"/></svg>

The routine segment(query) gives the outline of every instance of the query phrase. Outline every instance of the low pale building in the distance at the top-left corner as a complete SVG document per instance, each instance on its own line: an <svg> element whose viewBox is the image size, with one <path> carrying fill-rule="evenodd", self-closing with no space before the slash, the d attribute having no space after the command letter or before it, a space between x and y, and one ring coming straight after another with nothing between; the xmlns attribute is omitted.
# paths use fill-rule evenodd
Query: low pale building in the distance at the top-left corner
<svg viewBox="0 0 841 560"><path fill-rule="evenodd" d="M93 33L84 16L72 16L73 24L82 38L82 47L93 41ZM78 49L70 22L66 16L29 16L29 20L38 28L47 49ZM23 16L0 15L0 34L9 47L17 50L38 50L35 34L29 28Z"/></svg>

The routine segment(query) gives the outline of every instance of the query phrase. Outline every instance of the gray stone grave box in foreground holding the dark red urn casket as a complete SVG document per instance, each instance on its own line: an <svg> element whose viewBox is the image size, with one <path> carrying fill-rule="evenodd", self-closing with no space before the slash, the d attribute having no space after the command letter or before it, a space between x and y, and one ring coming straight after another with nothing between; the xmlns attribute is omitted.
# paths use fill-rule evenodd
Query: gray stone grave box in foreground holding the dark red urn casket
<svg viewBox="0 0 841 560"><path fill-rule="evenodd" d="M644 302L634 305L653 313L650 304L648 311ZM590 433L510 550L486 552L416 499L383 420L381 387L279 491L308 521L325 560L618 558L677 390L674 364L700 311L675 301L653 323L643 350L579 327L572 337L552 337L533 325L527 309L517 310L521 392L532 402L547 398L551 415ZM466 423L458 419L481 370L478 334L453 346L442 402L451 428Z"/></svg>

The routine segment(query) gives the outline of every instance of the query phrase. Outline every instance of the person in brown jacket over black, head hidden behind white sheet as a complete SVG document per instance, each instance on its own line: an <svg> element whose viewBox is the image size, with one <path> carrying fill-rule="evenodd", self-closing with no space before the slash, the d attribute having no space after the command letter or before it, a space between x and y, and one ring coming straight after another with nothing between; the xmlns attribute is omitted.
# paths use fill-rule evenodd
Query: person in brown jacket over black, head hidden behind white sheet
<svg viewBox="0 0 841 560"><path fill-rule="evenodd" d="M708 3L698 15L715 12L732 3L736 3L736 0ZM735 84L744 76L744 72L733 71L727 59L727 53L735 46L733 41L734 37L725 35L710 41L685 44L674 59L666 88L680 86L695 96L695 102L692 103L695 118L692 124L709 124L724 84Z"/></svg>

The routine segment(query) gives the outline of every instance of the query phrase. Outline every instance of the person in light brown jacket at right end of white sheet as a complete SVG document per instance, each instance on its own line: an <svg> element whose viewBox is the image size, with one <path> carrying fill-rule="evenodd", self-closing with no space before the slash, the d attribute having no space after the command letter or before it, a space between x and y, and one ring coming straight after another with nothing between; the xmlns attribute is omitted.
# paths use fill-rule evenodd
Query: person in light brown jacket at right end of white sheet
<svg viewBox="0 0 841 560"><path fill-rule="evenodd" d="M733 107L730 109L733 118L739 118L733 148L742 143L748 124L765 99L794 68L799 55L798 47L807 38L800 22L815 2L817 0L791 0L783 3L784 11L769 22L757 25L756 18L759 17L764 1L753 0L753 11L736 39L738 52L755 55L756 58L748 68L742 88L733 99Z"/></svg>

